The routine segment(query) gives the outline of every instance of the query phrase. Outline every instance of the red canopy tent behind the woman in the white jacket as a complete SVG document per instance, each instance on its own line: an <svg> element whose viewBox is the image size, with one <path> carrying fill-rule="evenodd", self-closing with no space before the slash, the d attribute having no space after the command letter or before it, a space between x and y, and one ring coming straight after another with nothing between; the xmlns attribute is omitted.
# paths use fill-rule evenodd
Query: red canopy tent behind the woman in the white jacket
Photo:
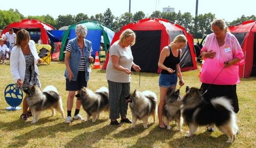
<svg viewBox="0 0 256 148"><path fill-rule="evenodd" d="M41 36L43 44L49 44L49 38L47 36L47 30L55 30L54 27L52 27L50 24L47 24L45 22L35 20L35 19L23 19L20 22L13 22L9 24L8 26L5 26L2 34L5 34L6 32L9 32L9 29L13 29L15 33L19 29L26 29L29 31L31 39L33 39L33 36L38 36L39 39ZM1 34L1 35L2 35ZM34 40L35 42L38 41L38 39Z"/></svg>

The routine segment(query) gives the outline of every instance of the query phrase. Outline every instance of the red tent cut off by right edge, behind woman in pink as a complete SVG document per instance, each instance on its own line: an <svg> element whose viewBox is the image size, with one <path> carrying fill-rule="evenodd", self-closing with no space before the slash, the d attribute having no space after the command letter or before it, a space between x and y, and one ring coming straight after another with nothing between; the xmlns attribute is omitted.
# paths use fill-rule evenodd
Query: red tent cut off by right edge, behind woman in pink
<svg viewBox="0 0 256 148"><path fill-rule="evenodd" d="M245 64L239 66L239 77L256 76L256 24L254 20L245 21L237 26L229 27L236 36L244 52Z"/></svg>

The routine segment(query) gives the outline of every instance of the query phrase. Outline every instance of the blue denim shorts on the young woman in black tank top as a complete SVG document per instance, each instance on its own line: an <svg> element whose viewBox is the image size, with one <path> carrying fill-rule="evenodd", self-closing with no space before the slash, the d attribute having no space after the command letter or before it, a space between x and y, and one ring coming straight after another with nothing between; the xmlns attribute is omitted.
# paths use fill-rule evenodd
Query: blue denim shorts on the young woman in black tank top
<svg viewBox="0 0 256 148"><path fill-rule="evenodd" d="M159 76L159 86L160 87L171 87L177 86L178 76L177 73L172 74L160 74Z"/></svg>

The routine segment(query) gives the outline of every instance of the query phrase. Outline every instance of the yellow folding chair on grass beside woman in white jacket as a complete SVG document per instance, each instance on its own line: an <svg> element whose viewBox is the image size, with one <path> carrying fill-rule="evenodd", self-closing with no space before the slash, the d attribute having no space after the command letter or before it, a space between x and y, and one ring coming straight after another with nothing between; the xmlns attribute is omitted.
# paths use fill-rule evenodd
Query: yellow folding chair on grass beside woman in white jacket
<svg viewBox="0 0 256 148"><path fill-rule="evenodd" d="M42 59L41 64L51 64L51 45L38 45L37 50L39 50L38 56Z"/></svg>

